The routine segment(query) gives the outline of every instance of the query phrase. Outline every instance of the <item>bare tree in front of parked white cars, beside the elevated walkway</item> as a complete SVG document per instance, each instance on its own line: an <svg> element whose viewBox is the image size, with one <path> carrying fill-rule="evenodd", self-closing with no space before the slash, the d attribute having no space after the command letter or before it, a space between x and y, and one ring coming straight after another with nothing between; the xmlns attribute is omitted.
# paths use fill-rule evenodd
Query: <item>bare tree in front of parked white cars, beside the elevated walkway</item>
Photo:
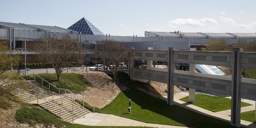
<svg viewBox="0 0 256 128"><path fill-rule="evenodd" d="M96 54L109 66L112 65L114 80L118 75L119 63L131 61L133 58L125 44L114 40L102 40L97 46Z"/></svg>

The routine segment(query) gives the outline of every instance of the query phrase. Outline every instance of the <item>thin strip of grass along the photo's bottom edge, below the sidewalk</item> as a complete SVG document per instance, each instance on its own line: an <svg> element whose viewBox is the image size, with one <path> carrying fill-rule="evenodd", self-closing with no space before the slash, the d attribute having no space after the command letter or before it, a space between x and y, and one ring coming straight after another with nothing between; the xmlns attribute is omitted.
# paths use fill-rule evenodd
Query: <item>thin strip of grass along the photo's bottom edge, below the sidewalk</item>
<svg viewBox="0 0 256 128"><path fill-rule="evenodd" d="M86 126L81 124L73 124L68 128L153 128L153 127L132 127L132 126Z"/></svg>

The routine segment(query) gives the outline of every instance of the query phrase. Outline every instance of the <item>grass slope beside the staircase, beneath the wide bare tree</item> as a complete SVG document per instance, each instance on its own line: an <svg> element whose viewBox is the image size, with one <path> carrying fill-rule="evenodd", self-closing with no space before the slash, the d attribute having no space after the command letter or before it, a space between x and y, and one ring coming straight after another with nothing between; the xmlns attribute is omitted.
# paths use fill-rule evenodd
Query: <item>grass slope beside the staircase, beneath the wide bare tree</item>
<svg viewBox="0 0 256 128"><path fill-rule="evenodd" d="M50 82L52 85L68 89L69 91L73 93L79 93L83 92L87 86L90 86L91 84L87 82L84 77L80 74L76 73L63 73L60 76L60 81L57 81L57 75L56 73L48 73L48 74L37 74L38 76L44 78L46 81ZM31 76L23 76L27 80L34 80L34 77ZM42 80L39 77L36 77L36 80L38 82L42 83ZM49 84L46 82L44 83L47 87L49 87ZM58 90L55 90L54 88L51 88L52 91L58 93ZM64 91L61 91L61 93L64 93Z"/></svg>

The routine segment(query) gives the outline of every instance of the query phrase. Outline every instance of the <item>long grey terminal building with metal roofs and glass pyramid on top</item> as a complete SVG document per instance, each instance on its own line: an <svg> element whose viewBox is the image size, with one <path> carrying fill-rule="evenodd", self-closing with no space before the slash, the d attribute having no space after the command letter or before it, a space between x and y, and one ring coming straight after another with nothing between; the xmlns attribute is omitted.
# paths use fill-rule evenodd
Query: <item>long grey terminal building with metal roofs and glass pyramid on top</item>
<svg viewBox="0 0 256 128"><path fill-rule="evenodd" d="M0 41L7 40L10 50L22 51L25 48L24 40L26 41L26 49L30 51L27 53L27 61L32 62L29 58L35 59L36 43L40 43L41 37L56 36L61 38L64 35L69 35L71 38L76 38L77 42L81 43L86 51L87 62L89 64L95 63L92 51L96 45L102 40L115 40L125 43L134 49L153 49L167 50L168 47L175 47L176 50L188 50L196 47L200 50L211 40L224 39L230 45L236 44L238 41L251 42L256 40L256 33L182 33L174 32L148 32L145 31L145 37L133 36L111 36L110 34L103 34L96 28L89 20L82 18L70 27L61 28L58 26L44 26L33 25L25 23L9 23L0 22ZM23 52L21 52L23 54ZM24 55L23 55L24 56ZM36 60L35 60L36 61ZM100 61L100 60L97 60Z"/></svg>

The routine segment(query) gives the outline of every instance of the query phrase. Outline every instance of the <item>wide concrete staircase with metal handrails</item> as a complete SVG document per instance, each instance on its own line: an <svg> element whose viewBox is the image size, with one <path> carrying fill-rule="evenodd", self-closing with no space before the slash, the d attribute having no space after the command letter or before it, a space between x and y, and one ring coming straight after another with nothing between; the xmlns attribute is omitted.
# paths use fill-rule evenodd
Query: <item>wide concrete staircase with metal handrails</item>
<svg viewBox="0 0 256 128"><path fill-rule="evenodd" d="M37 81L27 81L24 87L18 89L12 92L14 96L19 97L24 102L37 104L67 122L73 122L73 120L90 112L74 99L65 95L58 95Z"/></svg>

